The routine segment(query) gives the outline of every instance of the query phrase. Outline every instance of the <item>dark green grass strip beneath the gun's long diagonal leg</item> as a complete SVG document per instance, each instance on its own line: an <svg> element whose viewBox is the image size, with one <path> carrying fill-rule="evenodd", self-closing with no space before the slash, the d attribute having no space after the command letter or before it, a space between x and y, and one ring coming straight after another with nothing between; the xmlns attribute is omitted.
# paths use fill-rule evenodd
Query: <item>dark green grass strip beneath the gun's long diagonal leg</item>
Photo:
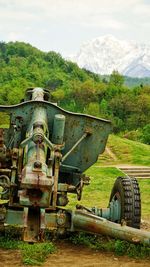
<svg viewBox="0 0 150 267"><path fill-rule="evenodd" d="M127 241L107 239L103 236L93 236L78 233L71 236L70 241L75 245L85 245L97 251L113 252L117 256L128 255L132 258L150 259L150 247L141 244L131 244Z"/></svg>

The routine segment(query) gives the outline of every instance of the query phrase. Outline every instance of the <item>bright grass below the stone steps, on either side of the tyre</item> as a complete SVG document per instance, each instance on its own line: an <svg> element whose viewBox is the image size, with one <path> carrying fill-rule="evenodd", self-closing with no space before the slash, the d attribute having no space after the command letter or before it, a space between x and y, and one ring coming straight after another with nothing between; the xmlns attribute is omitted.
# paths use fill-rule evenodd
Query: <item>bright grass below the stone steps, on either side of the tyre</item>
<svg viewBox="0 0 150 267"><path fill-rule="evenodd" d="M76 195L70 195L67 207L75 208L76 204L86 207L106 208L108 206L111 189L118 176L123 173L115 167L98 167L92 166L86 174L91 177L91 183L84 187L82 200L77 201ZM139 180L141 201L142 201L142 217L148 218L150 214L150 180Z"/></svg>

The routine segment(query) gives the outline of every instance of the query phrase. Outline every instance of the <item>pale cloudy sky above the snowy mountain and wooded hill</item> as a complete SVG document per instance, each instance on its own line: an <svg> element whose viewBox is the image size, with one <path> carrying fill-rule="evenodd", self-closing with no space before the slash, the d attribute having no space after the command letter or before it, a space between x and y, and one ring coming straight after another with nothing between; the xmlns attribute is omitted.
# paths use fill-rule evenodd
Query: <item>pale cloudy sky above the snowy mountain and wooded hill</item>
<svg viewBox="0 0 150 267"><path fill-rule="evenodd" d="M108 34L150 43L150 0L0 0L0 41L67 56Z"/></svg>

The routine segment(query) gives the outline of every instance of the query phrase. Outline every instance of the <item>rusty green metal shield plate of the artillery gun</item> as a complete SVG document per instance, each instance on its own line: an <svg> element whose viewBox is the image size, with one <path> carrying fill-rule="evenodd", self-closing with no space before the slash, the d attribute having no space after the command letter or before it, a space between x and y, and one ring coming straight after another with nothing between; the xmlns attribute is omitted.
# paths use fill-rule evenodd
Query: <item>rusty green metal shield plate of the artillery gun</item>
<svg viewBox="0 0 150 267"><path fill-rule="evenodd" d="M45 109L48 118L49 139L52 138L53 120L56 114L62 114L66 117L64 142L65 147L62 154L65 155L74 144L86 132L92 134L87 136L83 142L70 154L64 161L64 164L79 168L81 172L85 171L97 161L98 155L103 153L107 138L111 132L110 121L92 117L89 115L77 114L65 111L60 107L47 101L27 101L14 106L0 106L0 112L4 111L11 115L11 129L8 136L13 133L13 125L16 125L16 134L14 143L16 145L22 141L22 136L30 125L30 120L35 109ZM41 114L41 112L40 112Z"/></svg>

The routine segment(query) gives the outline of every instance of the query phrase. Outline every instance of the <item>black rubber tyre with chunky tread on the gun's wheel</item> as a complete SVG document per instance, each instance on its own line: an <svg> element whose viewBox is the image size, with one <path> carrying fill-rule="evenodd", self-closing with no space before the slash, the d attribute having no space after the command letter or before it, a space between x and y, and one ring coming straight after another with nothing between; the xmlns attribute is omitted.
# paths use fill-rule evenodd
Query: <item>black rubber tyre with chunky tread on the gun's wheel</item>
<svg viewBox="0 0 150 267"><path fill-rule="evenodd" d="M127 226L140 228L141 199L136 178L118 177L112 188L111 201L117 200L120 206L120 219L117 223L125 221Z"/></svg>

